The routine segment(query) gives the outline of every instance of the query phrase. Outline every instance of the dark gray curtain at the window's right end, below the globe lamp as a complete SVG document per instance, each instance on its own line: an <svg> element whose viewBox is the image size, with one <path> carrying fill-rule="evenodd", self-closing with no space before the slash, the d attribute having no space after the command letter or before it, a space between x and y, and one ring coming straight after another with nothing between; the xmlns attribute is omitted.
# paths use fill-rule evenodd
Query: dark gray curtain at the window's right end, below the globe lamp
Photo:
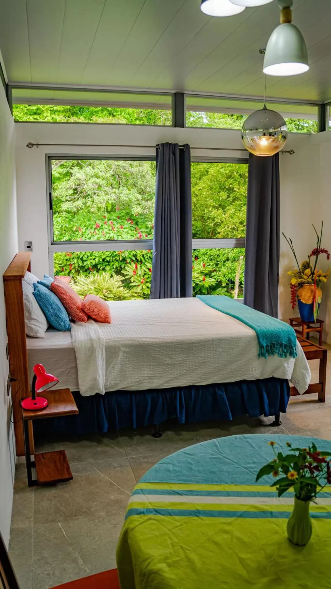
<svg viewBox="0 0 331 589"><path fill-rule="evenodd" d="M243 302L278 316L279 154L249 154Z"/></svg>

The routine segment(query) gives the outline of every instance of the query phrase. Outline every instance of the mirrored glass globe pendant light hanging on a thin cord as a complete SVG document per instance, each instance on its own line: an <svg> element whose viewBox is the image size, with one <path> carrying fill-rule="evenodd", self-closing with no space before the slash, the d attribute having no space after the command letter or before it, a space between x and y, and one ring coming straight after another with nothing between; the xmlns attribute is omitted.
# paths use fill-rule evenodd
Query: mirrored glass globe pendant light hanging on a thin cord
<svg viewBox="0 0 331 589"><path fill-rule="evenodd" d="M265 77L266 102L266 77ZM278 153L287 140L285 120L279 112L269 110L266 104L252 112L242 127L242 142L254 155L268 157Z"/></svg>

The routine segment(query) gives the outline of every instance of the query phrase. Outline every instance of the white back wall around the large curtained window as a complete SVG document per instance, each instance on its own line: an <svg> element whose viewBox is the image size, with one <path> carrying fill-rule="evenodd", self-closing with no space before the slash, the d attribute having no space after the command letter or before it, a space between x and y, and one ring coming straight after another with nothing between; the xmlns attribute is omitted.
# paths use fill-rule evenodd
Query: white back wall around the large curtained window
<svg viewBox="0 0 331 589"><path fill-rule="evenodd" d="M59 146L28 148L26 144L57 143ZM242 148L239 131L139 127L129 125L16 123L16 168L18 190L19 249L24 241L33 241L32 272L37 276L52 272L48 267L46 154L79 155L155 155L155 148L125 147L125 145L155 145L164 141L189 143L194 147ZM74 143L81 147L65 147ZM121 148L85 147L83 144L120 144ZM280 155L281 214L280 230L297 243L300 256L306 252L302 224L310 219L310 187L313 177L312 137L290 134L286 149L294 155ZM192 156L247 157L247 151L213 151L192 149ZM316 164L317 167L317 164ZM317 172L317 168L316 168ZM315 174L315 171L314 171ZM317 222L317 221L316 221ZM292 315L289 300L289 278L286 274L292 258L285 240L280 240L280 317Z"/></svg>

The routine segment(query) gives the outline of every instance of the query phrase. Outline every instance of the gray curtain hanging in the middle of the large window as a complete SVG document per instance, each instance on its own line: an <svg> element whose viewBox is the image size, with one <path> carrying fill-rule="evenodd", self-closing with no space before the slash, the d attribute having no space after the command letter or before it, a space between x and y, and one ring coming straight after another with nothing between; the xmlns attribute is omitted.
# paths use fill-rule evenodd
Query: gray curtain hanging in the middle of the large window
<svg viewBox="0 0 331 589"><path fill-rule="evenodd" d="M156 152L151 299L192 296L190 146L163 143Z"/></svg>

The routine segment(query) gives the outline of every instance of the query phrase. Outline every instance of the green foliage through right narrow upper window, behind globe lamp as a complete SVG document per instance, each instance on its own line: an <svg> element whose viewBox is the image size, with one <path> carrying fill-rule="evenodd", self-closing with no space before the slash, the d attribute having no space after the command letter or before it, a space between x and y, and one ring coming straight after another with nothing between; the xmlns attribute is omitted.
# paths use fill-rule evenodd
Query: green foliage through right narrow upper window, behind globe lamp
<svg viewBox="0 0 331 589"><path fill-rule="evenodd" d="M210 127L213 129L240 130L248 115L226 112L186 111L186 127ZM285 118L290 133L317 133L317 121L306 118Z"/></svg>

